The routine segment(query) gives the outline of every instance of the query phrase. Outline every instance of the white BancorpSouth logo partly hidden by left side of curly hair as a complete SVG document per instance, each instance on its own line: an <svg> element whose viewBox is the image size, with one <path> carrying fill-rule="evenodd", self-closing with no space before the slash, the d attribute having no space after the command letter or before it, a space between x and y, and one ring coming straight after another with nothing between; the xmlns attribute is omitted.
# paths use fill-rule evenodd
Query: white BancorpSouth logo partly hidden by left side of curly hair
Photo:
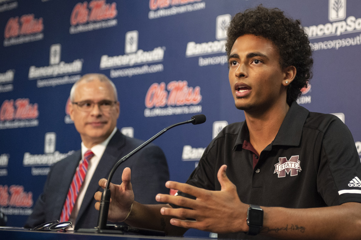
<svg viewBox="0 0 361 240"><path fill-rule="evenodd" d="M216 18L216 40L196 43L188 42L186 48L186 57L197 57L199 66L208 65L224 65L227 63L227 55L215 56L215 57L201 57L209 54L225 53L226 52L226 38L227 38L227 26L231 21L230 14L219 15Z"/></svg>

